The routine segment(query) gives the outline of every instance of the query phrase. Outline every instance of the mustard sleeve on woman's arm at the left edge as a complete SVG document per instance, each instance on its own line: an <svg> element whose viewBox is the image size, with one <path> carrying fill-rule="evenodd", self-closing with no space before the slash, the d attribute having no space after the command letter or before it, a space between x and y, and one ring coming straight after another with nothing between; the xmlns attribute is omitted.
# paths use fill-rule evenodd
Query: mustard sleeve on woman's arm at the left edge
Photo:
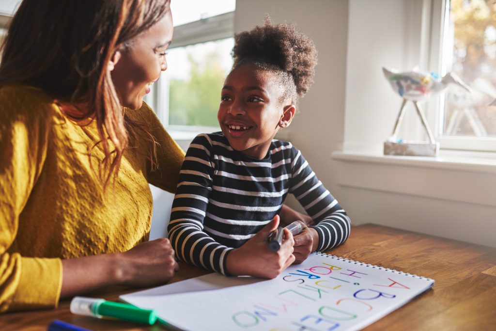
<svg viewBox="0 0 496 331"><path fill-rule="evenodd" d="M15 92L15 91L14 91ZM55 307L60 259L8 253L47 153L51 119L36 98L0 90L0 311Z"/></svg>

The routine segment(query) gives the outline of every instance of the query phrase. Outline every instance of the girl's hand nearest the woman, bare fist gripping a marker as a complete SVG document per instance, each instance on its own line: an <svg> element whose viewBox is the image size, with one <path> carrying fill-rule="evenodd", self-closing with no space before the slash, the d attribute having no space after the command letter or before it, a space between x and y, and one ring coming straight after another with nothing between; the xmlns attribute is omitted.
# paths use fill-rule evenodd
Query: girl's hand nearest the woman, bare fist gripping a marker
<svg viewBox="0 0 496 331"><path fill-rule="evenodd" d="M269 234L277 229L279 215L249 239L240 248L232 250L227 256L227 270L235 276L248 275L260 278L275 278L295 261L293 235L284 230L283 243L277 252L268 246Z"/></svg>

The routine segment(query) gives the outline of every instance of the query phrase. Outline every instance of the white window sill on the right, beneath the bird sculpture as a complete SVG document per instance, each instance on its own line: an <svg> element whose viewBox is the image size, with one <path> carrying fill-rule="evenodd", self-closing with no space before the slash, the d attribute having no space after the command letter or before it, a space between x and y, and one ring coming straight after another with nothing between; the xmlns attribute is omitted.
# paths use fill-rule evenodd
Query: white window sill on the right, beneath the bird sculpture
<svg viewBox="0 0 496 331"><path fill-rule="evenodd" d="M494 153L410 157L334 152L332 158L343 188L496 206Z"/></svg>

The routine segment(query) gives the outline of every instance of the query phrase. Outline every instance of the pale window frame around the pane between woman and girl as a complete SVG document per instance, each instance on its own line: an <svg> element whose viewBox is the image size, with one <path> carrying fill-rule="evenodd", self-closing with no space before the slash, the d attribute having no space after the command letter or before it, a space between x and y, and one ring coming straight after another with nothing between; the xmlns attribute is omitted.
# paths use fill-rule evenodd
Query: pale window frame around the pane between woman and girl
<svg viewBox="0 0 496 331"><path fill-rule="evenodd" d="M174 38L169 49L234 37L234 14L235 12L231 11L175 26ZM165 74L164 72L161 74L161 79L154 84L151 92L145 96L145 102L155 110L162 125L174 137L181 136L185 139L194 137L199 132L219 131L219 127L169 124L169 81ZM158 93L158 91L161 92Z"/></svg>

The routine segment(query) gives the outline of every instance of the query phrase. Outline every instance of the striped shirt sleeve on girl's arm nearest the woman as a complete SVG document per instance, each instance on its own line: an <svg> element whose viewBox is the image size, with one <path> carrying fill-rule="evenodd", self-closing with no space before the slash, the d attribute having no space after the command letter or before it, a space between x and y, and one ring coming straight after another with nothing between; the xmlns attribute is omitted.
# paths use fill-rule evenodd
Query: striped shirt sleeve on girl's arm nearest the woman
<svg viewBox="0 0 496 331"><path fill-rule="evenodd" d="M212 141L196 136L186 152L168 226L169 240L178 259L227 274L226 258L232 248L203 231L203 220L212 191L215 164Z"/></svg>

